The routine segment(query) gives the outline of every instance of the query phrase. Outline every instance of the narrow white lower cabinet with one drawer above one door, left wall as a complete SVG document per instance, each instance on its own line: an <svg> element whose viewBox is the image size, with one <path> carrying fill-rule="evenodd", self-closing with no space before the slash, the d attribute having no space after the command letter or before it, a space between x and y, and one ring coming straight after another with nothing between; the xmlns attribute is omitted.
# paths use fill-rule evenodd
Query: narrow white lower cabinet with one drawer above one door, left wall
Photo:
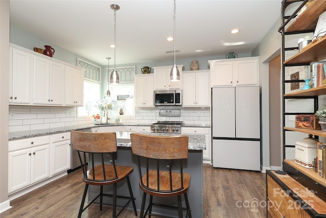
<svg viewBox="0 0 326 218"><path fill-rule="evenodd" d="M70 169L70 132L52 135L52 175Z"/></svg>

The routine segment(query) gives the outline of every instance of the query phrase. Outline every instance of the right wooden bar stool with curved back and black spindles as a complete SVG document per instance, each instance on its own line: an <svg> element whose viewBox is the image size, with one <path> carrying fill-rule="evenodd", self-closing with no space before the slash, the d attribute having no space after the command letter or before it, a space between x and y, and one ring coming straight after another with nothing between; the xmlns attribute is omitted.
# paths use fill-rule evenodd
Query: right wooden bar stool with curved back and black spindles
<svg viewBox="0 0 326 218"><path fill-rule="evenodd" d="M168 217L164 214L152 213L152 206L158 206L178 209L179 217L183 217L183 210L185 210L185 217L191 218L187 197L191 176L183 173L182 169L182 160L188 158L188 136L150 136L131 133L130 139L132 154L138 156L139 187L143 191L140 217L146 217L146 215ZM161 169L162 164L167 168ZM144 174L142 167L146 168ZM147 194L150 195L150 199L144 214ZM186 208L182 208L181 195L184 195ZM177 206L153 203L153 196L176 196Z"/></svg>

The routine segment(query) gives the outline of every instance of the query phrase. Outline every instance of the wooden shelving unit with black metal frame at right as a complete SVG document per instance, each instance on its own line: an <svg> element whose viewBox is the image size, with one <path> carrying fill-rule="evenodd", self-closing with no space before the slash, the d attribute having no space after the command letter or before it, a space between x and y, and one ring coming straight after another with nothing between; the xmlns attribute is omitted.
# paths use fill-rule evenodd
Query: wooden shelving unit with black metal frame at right
<svg viewBox="0 0 326 218"><path fill-rule="evenodd" d="M288 16L285 15L286 8L292 3L302 2L302 4L295 10L295 12ZM301 34L301 33L309 33L314 32L316 27L319 15L326 11L326 1L325 0L314 0L313 2L309 2L307 9L300 15L296 15L300 8L307 4L307 0L283 0L282 1L282 26L279 28L279 32L282 34L282 85L283 85L283 170L288 173L287 177L281 177L277 175L273 171L267 172L267 201L297 201L300 202L299 207L295 208L295 210L289 211L288 208L275 208L275 211L278 211L278 215L281 217L326 217L326 179L319 176L317 173L313 171L311 168L303 167L299 164L296 164L294 160L286 159L286 148L291 148L292 152L294 151L294 144L286 144L286 133L289 131L301 132L306 134L312 134L316 138L317 136L326 137L326 132L321 130L313 130L313 129L303 129L303 128L294 128L294 127L286 127L285 126L285 117L286 115L300 114L301 108L298 108L295 113L286 112L285 104L290 104L291 101L285 101L285 99L291 99L295 101L295 99L313 99L314 100L314 111L309 111L309 114L314 114L318 109L318 96L326 95L326 85L319 86L316 88L311 88L308 90L300 90L297 92L292 92L285 94L285 83L292 82L285 80L285 67L290 66L301 66L301 65L309 65L311 62L321 61L326 58L326 37L323 37L319 40L314 40L310 44L308 44L301 52L292 56L291 58L285 60L285 51L294 50L295 47L286 47L285 36ZM295 20L290 23L288 22L291 18L295 18ZM290 24L289 24L290 23ZM294 82L294 81L293 81ZM317 155L317 154L316 154ZM289 191L290 196L287 199L283 198L283 196L275 197L273 196L273 191L275 187L282 188L285 192ZM308 187L308 188L307 188ZM313 196L301 196L296 195L296 188L298 190L302 190L305 192L306 190L315 191ZM289 202L287 201L287 202ZM314 202L315 205L312 205L310 208L305 208L304 203ZM273 216L274 211L267 209L267 214L269 216ZM267 215L267 217L269 217Z"/></svg>

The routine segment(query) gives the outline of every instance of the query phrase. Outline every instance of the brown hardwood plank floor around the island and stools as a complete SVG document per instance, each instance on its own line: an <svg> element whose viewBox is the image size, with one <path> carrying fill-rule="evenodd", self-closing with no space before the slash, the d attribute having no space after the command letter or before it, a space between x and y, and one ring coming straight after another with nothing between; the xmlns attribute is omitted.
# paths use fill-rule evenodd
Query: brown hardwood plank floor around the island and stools
<svg viewBox="0 0 326 218"><path fill-rule="evenodd" d="M203 177L204 218L266 217L265 174L214 169L204 164ZM12 208L0 217L77 217L84 185L81 170L74 171L11 201ZM100 211L99 205L91 205L82 217L111 217L111 214L111 207L104 206ZM133 211L125 210L119 217L135 216Z"/></svg>

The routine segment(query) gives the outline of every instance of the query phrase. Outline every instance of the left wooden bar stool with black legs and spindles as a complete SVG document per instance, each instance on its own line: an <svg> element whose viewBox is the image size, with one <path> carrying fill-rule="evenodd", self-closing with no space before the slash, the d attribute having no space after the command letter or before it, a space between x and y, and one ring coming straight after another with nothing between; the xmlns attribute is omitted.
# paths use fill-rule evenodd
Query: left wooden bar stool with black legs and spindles
<svg viewBox="0 0 326 218"><path fill-rule="evenodd" d="M92 203L95 203L100 204L100 210L102 210L102 205L113 206L112 217L115 218L120 215L130 201L133 206L134 214L137 216L137 210L129 181L129 174L133 172L133 167L116 165L115 159L113 158L114 152L117 152L116 133L88 133L71 131L71 141L73 148L77 150L80 164L83 169L83 182L86 183L78 217L80 217L83 211L86 210L86 208L88 208ZM83 159L84 163L86 163L87 155L89 155L92 164L92 168L89 169L87 169L87 164L83 164L82 162ZM111 160L104 160L105 158L107 159L107 155L111 156ZM127 180L130 197L117 195L117 183L123 181L124 179ZM99 185L100 193L84 208L89 185ZM113 185L113 195L103 193L103 185ZM113 204L103 203L103 196L113 197ZM100 201L95 202L98 198ZM117 198L127 199L128 201L123 206L117 206ZM116 207L121 207L118 214L116 214Z"/></svg>

